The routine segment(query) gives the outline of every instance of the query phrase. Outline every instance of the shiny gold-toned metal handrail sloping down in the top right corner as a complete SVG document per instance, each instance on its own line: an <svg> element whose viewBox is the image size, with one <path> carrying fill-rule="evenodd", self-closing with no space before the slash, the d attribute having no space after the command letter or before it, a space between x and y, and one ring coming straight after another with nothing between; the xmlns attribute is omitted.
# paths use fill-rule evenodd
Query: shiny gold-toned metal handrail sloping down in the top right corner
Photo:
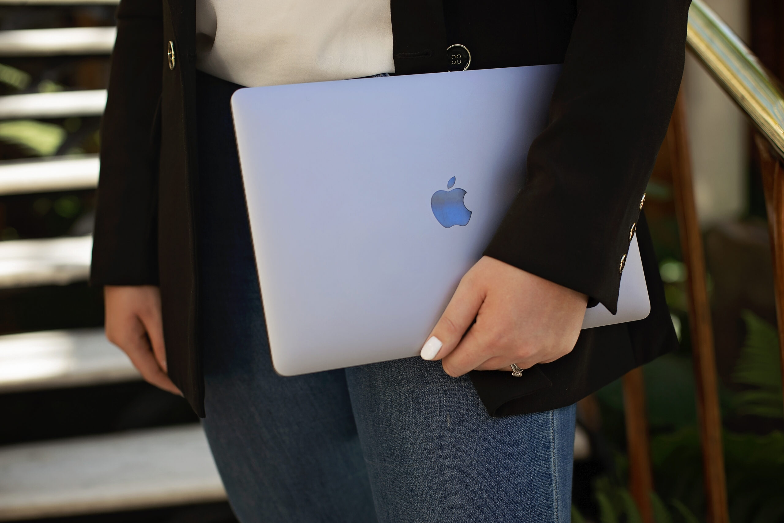
<svg viewBox="0 0 784 523"><path fill-rule="evenodd" d="M784 158L784 94L776 78L702 0L692 0L686 42Z"/></svg>

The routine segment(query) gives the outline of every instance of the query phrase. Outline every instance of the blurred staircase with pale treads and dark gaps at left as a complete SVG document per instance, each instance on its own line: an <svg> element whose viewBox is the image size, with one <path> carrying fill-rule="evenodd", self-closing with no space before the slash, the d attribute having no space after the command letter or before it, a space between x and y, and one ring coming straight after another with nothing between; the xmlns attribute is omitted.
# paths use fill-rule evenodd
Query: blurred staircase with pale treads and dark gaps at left
<svg viewBox="0 0 784 523"><path fill-rule="evenodd" d="M0 521L227 523L198 420L86 284L111 2L0 0Z"/></svg>

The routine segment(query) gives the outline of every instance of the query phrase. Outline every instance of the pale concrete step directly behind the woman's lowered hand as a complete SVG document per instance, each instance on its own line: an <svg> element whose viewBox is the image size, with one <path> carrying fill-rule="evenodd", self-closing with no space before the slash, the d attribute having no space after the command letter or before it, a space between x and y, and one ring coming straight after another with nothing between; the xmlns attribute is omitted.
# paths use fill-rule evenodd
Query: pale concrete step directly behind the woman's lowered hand
<svg viewBox="0 0 784 523"><path fill-rule="evenodd" d="M103 329L0 336L0 394L140 380Z"/></svg>

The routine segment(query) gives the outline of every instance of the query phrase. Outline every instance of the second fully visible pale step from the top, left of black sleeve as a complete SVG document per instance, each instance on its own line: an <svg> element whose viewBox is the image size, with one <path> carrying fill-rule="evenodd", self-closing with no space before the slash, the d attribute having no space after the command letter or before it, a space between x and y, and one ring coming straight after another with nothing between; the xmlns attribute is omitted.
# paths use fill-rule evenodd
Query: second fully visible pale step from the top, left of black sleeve
<svg viewBox="0 0 784 523"><path fill-rule="evenodd" d="M0 119L100 116L106 89L0 96Z"/></svg>

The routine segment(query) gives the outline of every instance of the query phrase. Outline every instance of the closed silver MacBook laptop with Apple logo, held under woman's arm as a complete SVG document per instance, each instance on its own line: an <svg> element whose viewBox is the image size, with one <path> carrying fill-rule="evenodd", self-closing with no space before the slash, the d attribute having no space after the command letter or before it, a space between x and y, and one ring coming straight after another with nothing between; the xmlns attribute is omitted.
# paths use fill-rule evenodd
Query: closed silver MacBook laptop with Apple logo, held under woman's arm
<svg viewBox="0 0 784 523"><path fill-rule="evenodd" d="M419 354L520 191L561 66L240 89L231 100L272 361ZM636 238L619 311L650 310Z"/></svg>

